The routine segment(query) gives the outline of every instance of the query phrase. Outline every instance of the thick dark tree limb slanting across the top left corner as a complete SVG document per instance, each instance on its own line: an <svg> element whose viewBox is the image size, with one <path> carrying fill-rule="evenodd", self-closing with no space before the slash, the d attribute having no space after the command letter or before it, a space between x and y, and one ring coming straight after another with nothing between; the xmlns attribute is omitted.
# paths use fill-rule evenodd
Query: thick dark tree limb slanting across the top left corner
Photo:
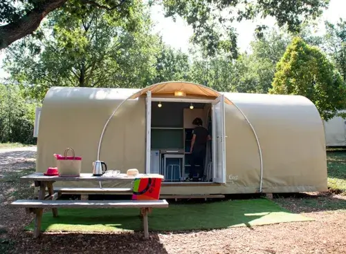
<svg viewBox="0 0 346 254"><path fill-rule="evenodd" d="M0 26L0 50L33 33L46 15L66 3L67 0L46 0L15 22Z"/></svg>

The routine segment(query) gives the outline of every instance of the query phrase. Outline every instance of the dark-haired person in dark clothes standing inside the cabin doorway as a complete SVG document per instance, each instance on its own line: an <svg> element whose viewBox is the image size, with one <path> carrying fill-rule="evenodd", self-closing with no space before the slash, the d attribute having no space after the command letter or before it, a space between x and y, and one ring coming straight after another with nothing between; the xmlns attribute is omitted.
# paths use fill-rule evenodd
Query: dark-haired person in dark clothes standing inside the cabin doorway
<svg viewBox="0 0 346 254"><path fill-rule="evenodd" d="M189 174L189 180L192 181L195 173L199 173L199 181L203 179L204 173L204 159L206 158L206 145L207 141L211 140L208 130L204 128L203 121L201 118L197 117L192 121L192 124L196 126L192 132L191 141L191 168ZM199 165L201 168L199 172L196 172L196 166Z"/></svg>

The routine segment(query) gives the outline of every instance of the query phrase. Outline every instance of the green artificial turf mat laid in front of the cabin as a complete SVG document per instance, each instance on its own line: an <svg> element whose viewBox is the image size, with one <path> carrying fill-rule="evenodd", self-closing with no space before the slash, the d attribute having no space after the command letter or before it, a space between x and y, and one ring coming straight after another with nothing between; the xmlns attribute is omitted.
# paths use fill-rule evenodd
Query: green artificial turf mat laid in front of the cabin
<svg viewBox="0 0 346 254"><path fill-rule="evenodd" d="M44 213L42 231L141 231L136 208L60 208L59 217ZM245 199L199 204L170 204L154 208L149 231L189 231L231 226L256 226L312 220L290 213L268 199ZM34 222L26 227L33 231Z"/></svg>

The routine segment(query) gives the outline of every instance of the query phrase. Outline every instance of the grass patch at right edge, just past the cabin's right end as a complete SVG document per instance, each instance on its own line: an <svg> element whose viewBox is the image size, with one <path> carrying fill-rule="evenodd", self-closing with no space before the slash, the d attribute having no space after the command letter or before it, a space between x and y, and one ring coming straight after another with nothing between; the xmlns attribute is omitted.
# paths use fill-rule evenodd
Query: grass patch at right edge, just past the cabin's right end
<svg viewBox="0 0 346 254"><path fill-rule="evenodd" d="M328 188L346 195L346 151L327 151Z"/></svg>

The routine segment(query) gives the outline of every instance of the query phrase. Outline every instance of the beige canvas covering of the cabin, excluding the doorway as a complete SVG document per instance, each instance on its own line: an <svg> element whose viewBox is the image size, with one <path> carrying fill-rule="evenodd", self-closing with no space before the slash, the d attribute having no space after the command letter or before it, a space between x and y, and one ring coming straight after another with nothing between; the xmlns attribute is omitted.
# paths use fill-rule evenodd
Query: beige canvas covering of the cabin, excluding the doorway
<svg viewBox="0 0 346 254"><path fill-rule="evenodd" d="M143 172L145 99L141 95L150 89L154 95L174 96L174 91L180 89L186 92L187 97L215 98L225 95L228 101L225 105L227 183L201 188L165 187L164 194L253 193L260 185L260 154L264 191L326 190L324 129L318 110L309 99L289 95L217 92L197 84L182 83L167 82L142 90L51 88L44 99L39 122L37 172L45 172L49 166L55 166L53 154L64 153L64 149L70 146L75 149L76 155L83 158L82 172L91 173L92 162L97 159L102 128L114 109L127 98L130 99L122 104L104 133L100 159L107 162L109 168L122 172L129 168L138 168ZM232 177L238 178L231 181ZM68 186L71 184L67 183ZM95 186L98 184L95 183Z"/></svg>

